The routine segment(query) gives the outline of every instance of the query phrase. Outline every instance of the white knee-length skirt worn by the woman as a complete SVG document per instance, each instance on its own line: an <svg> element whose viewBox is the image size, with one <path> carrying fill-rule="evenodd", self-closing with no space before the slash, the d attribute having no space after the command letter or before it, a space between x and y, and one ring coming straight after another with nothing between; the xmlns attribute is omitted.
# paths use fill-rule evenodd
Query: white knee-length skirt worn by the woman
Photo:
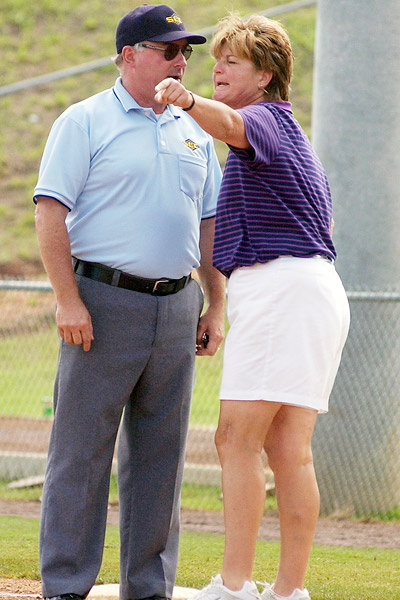
<svg viewBox="0 0 400 600"><path fill-rule="evenodd" d="M221 400L328 411L349 324L329 259L282 256L236 269L228 283Z"/></svg>

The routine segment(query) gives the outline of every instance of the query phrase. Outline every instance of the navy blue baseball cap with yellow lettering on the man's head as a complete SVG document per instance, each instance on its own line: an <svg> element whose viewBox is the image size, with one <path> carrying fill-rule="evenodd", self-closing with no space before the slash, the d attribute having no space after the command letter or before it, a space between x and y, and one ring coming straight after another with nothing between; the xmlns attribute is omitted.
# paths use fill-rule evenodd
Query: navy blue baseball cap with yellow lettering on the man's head
<svg viewBox="0 0 400 600"><path fill-rule="evenodd" d="M166 4L142 4L126 14L118 23L115 44L118 54L124 46L139 42L175 42L187 39L189 44L204 44L203 35L186 31L181 18Z"/></svg>

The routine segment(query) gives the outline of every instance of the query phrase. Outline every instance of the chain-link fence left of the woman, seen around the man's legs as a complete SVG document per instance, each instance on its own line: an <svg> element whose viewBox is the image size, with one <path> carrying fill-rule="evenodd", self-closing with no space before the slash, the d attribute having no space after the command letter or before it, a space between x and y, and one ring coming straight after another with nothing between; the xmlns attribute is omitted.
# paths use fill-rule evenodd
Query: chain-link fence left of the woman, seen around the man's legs
<svg viewBox="0 0 400 600"><path fill-rule="evenodd" d="M18 498L24 490L31 497L31 488L43 482L57 354L55 299L49 283L0 280L0 496L9 497L11 489L18 491ZM190 504L221 508L213 437L222 352L196 360L184 492ZM270 474L268 480L272 481Z"/></svg>

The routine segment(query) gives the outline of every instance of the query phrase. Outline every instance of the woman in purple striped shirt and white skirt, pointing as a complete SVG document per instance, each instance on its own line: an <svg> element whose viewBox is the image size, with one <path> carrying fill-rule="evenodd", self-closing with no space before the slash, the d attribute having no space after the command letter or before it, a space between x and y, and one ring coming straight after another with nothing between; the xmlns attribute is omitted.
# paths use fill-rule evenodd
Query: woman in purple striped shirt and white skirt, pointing
<svg viewBox="0 0 400 600"><path fill-rule="evenodd" d="M173 79L155 96L190 111L230 149L214 245L214 265L229 277L216 433L225 552L221 574L194 600L259 598L252 570L265 505L263 448L275 476L281 554L262 598L309 600L304 578L319 513L311 437L317 414L328 410L349 327L331 196L288 102L293 57L281 25L231 15L211 51L213 100Z"/></svg>

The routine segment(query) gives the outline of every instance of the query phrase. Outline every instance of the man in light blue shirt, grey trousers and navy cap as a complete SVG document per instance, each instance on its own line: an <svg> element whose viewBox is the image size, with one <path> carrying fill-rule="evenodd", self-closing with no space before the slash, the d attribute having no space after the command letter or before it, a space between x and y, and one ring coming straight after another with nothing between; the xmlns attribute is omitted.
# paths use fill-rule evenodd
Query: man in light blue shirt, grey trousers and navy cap
<svg viewBox="0 0 400 600"><path fill-rule="evenodd" d="M212 139L154 95L205 41L169 6L132 10L117 27L115 86L69 107L44 150L36 228L60 334L44 598L79 600L95 582L122 413L120 597L172 596L194 359L222 341L225 285L211 263Z"/></svg>

